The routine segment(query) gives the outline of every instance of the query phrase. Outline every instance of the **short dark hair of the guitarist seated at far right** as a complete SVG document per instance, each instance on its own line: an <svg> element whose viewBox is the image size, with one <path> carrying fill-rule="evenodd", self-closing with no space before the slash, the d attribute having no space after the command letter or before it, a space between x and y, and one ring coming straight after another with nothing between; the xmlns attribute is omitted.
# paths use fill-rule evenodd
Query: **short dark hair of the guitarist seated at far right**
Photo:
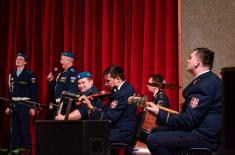
<svg viewBox="0 0 235 155"><path fill-rule="evenodd" d="M196 48L197 54L202 61L203 66L208 66L210 69L213 67L214 52L208 48Z"/></svg>

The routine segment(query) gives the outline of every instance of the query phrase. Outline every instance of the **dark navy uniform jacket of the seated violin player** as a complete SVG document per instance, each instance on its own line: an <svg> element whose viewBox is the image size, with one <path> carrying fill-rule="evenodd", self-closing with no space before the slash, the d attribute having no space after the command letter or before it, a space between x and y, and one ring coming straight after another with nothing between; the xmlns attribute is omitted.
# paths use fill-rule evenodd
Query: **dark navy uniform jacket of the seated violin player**
<svg viewBox="0 0 235 155"><path fill-rule="evenodd" d="M91 114L91 119L111 121L111 142L133 142L137 107L128 104L128 97L134 93L134 88L125 81L119 90L111 94L109 102L102 109L96 108Z"/></svg>

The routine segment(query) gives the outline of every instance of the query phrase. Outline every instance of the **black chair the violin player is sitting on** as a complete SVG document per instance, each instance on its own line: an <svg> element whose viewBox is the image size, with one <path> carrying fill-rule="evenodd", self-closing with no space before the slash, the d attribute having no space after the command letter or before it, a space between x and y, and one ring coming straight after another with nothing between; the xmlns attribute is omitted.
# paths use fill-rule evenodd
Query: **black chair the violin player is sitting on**
<svg viewBox="0 0 235 155"><path fill-rule="evenodd" d="M142 127L142 124L143 124L144 112L143 111L138 112L136 116L137 116L137 124L136 124L136 131L135 131L136 133L134 134L135 137L134 137L132 144L129 145L126 143L111 143L110 150L117 150L117 151L124 150L125 155L132 154L132 151L133 151L135 144L137 142L138 133L139 133L139 131Z"/></svg>

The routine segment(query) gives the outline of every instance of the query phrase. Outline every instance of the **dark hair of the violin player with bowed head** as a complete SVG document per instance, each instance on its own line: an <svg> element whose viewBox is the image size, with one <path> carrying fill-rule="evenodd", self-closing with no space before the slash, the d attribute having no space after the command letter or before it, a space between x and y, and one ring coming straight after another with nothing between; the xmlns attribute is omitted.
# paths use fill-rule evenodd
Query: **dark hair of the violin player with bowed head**
<svg viewBox="0 0 235 155"><path fill-rule="evenodd" d="M120 77L121 80L125 80L124 71L121 66L112 65L104 71L104 76L110 74L112 78Z"/></svg>

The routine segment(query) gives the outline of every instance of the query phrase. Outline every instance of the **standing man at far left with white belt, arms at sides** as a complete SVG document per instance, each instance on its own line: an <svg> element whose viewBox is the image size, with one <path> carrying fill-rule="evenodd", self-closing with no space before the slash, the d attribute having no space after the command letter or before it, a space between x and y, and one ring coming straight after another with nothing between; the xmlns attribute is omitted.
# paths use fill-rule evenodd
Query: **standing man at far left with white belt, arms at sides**
<svg viewBox="0 0 235 155"><path fill-rule="evenodd" d="M30 134L30 114L35 115L35 110L29 106L20 104L20 101L37 101L36 78L31 71L25 69L27 56L19 52L16 57L16 71L9 75L9 99L12 102L12 148L31 149L32 140ZM6 109L9 113L10 109Z"/></svg>

